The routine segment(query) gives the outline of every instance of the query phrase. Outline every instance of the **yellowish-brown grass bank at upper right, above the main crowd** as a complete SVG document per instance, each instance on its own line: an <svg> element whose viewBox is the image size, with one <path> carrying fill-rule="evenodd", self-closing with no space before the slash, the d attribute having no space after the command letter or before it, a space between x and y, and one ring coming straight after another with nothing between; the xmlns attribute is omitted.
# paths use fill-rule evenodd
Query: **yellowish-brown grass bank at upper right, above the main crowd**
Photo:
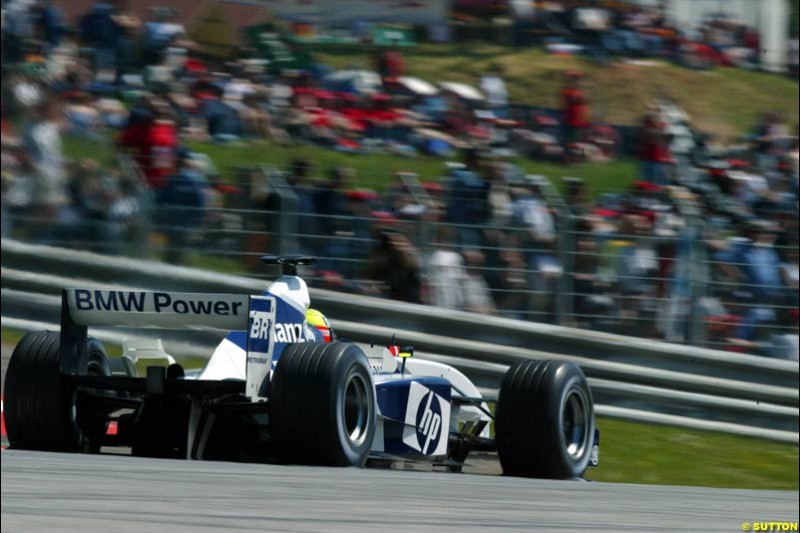
<svg viewBox="0 0 800 533"><path fill-rule="evenodd" d="M374 52L361 45L313 47L317 59L336 68L369 68ZM511 101L560 108L564 73L586 73L595 120L636 124L657 96L673 98L705 131L741 135L765 111L781 110L797 124L797 82L756 71L716 68L698 72L662 61L600 66L576 56L554 56L540 48L514 50L485 42L419 44L403 49L406 70L428 81L477 85L492 65L503 68Z"/></svg>

